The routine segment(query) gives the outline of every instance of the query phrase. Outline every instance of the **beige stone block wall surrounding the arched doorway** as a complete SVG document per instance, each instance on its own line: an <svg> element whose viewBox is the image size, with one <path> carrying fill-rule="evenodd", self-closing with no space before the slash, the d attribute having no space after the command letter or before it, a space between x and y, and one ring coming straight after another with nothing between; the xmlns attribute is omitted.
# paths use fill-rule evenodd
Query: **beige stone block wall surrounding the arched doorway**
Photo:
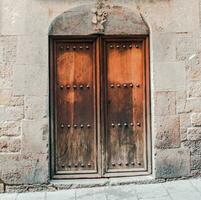
<svg viewBox="0 0 201 200"><path fill-rule="evenodd" d="M0 1L0 179L49 180L48 30L96 1ZM201 1L111 0L150 28L153 176L201 173ZM107 24L106 24L107 26Z"/></svg>

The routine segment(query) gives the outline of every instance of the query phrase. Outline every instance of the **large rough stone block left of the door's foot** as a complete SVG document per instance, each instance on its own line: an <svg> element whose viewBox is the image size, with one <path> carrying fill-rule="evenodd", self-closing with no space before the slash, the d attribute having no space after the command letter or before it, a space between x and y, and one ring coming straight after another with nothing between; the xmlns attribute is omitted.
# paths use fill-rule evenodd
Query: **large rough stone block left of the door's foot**
<svg viewBox="0 0 201 200"><path fill-rule="evenodd" d="M48 181L47 154L23 151L20 154L1 154L0 163L1 179L5 184L41 184Z"/></svg>

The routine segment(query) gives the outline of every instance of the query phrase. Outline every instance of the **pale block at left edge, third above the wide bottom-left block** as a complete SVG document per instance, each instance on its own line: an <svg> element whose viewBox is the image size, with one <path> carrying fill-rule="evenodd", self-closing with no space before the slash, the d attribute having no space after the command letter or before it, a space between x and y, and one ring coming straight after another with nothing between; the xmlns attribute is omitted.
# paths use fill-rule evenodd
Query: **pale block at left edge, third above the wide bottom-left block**
<svg viewBox="0 0 201 200"><path fill-rule="evenodd" d="M0 122L17 121L24 118L23 106L0 106Z"/></svg>

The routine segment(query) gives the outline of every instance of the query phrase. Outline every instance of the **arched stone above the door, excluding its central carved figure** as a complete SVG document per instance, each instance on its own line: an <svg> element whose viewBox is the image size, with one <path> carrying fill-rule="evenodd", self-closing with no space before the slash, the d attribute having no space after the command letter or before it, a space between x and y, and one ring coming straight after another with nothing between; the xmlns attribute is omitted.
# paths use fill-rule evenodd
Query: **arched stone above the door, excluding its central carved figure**
<svg viewBox="0 0 201 200"><path fill-rule="evenodd" d="M148 35L149 28L139 11L123 6L112 6L108 10L104 32L99 32L92 23L93 5L82 5L70 9L54 19L49 35Z"/></svg>

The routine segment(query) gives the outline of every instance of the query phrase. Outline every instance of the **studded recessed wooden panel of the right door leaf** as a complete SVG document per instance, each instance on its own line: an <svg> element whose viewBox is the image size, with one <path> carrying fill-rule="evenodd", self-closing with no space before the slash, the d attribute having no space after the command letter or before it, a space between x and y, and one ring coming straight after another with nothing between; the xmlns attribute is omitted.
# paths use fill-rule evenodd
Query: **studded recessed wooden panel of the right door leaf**
<svg viewBox="0 0 201 200"><path fill-rule="evenodd" d="M145 170L143 43L105 42L106 173Z"/></svg>

